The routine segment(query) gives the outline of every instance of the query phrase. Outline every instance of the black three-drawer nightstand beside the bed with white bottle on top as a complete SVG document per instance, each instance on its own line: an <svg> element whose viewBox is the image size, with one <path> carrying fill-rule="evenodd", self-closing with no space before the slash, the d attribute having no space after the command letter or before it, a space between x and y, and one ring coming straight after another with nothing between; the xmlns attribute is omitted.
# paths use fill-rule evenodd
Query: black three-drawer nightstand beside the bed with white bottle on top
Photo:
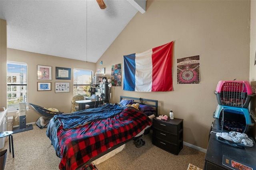
<svg viewBox="0 0 256 170"><path fill-rule="evenodd" d="M167 121L153 118L152 143L172 154L178 155L183 148L183 119L168 117Z"/></svg>

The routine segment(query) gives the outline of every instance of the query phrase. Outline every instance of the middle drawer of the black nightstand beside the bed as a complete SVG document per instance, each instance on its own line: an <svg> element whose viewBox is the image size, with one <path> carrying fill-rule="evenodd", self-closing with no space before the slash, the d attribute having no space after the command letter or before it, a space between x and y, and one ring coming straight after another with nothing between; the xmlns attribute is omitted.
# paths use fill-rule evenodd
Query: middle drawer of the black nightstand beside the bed
<svg viewBox="0 0 256 170"><path fill-rule="evenodd" d="M172 133L167 133L166 131L161 131L159 129L155 129L153 130L153 136L154 137L157 137L159 139L162 139L164 141L168 141L170 143L175 143L177 144L178 142L178 139L181 139L181 133L179 134L179 137L178 135L174 135Z"/></svg>

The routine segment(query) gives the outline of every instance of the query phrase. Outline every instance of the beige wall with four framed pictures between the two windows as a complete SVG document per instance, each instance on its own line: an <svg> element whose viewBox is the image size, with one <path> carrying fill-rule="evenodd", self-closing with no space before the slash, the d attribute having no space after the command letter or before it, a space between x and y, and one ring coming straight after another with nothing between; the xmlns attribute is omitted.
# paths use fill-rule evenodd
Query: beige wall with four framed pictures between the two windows
<svg viewBox="0 0 256 170"><path fill-rule="evenodd" d="M73 75L73 68L82 68L88 70L95 70L95 63L86 63L84 61L66 59L50 55L42 55L38 53L30 53L15 49L7 49L7 60L17 61L28 64L28 102L42 107L53 107L64 113L71 112L71 100L73 97L73 76L71 80L56 80L55 67L71 68ZM52 66L52 80L37 80L37 65ZM51 82L51 91L37 91L37 82ZM55 93L55 82L70 82L70 92L68 93ZM14 115L16 113L10 113ZM31 108L27 112L26 123L36 122L42 116ZM14 126L19 125L18 119L14 120Z"/></svg>

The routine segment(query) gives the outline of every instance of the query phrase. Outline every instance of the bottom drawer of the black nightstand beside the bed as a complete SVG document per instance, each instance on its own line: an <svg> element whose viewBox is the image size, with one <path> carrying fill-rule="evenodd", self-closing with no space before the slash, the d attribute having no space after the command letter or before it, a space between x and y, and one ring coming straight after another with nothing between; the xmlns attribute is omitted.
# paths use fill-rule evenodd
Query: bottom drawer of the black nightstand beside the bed
<svg viewBox="0 0 256 170"><path fill-rule="evenodd" d="M153 137L152 143L153 145L156 145L157 147L176 155L178 155L180 150L183 148L183 140L179 141L178 145L175 145L175 144L163 141L159 138Z"/></svg>

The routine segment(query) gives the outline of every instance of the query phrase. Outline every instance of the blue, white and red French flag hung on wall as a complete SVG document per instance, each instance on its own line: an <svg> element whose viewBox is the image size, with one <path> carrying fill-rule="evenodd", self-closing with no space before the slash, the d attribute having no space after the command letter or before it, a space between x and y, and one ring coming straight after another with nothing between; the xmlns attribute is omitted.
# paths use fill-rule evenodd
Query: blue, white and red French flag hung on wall
<svg viewBox="0 0 256 170"><path fill-rule="evenodd" d="M142 53L124 55L123 90L172 91L173 44L172 41Z"/></svg>

